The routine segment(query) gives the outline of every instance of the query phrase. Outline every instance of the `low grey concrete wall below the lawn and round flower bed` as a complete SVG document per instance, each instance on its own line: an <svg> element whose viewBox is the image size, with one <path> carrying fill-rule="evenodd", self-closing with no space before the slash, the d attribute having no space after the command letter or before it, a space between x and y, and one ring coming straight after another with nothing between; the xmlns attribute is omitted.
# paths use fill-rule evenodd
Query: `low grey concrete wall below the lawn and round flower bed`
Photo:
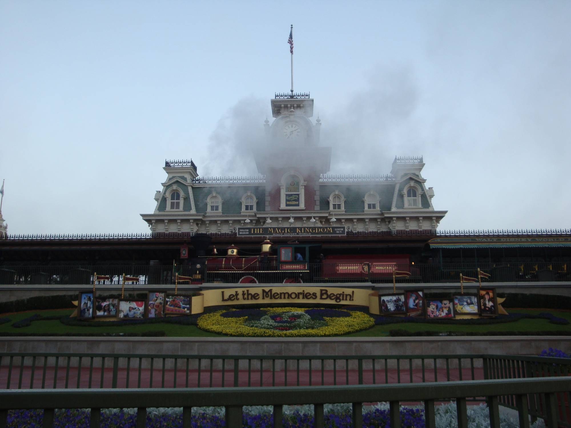
<svg viewBox="0 0 571 428"><path fill-rule="evenodd" d="M7 337L0 342L0 352L72 352L85 354L160 354L174 357L183 355L221 355L234 356L382 356L408 354L513 354L537 355L541 350L553 347L571 349L571 336L475 336L475 337L327 337L327 338L251 338L251 337L203 337L203 338L141 338L141 337ZM319 358L319 357L318 357ZM66 359L61 358L61 364ZM121 359L120 366L126 365ZM51 362L53 364L53 362ZM89 366L89 358L84 358L84 365ZM96 358L95 366L100 364ZM107 366L110 362L106 363ZM158 363L155 363L157 366ZM174 360L167 361L167 368L172 368ZM203 361L203 364L209 364ZM214 368L219 369L221 361L215 362ZM230 365L229 365L230 364ZM226 364L232 368L232 361ZM252 367L259 367L258 362L252 361ZM266 362L268 364L268 362ZM266 368L264 364L264 368ZM319 364L316 362L316 364ZM349 368L356 368L356 361L349 363ZM391 367L396 364L394 361ZM413 367L420 366L420 360L413 360ZM444 364L444 360L441 360ZM74 363L77 365L77 362ZM150 360L145 360L143 366L148 367ZM194 362L196 365L196 362ZM240 368L247 361L240 362ZM327 363L326 368L332 365ZM463 363L464 365L464 363ZM480 366L481 361L475 360ZM160 366L160 365L159 365ZM159 367L158 366L158 367ZM408 366L408 362L402 365ZM439 364L440 366L440 364ZM457 366L457 360L451 361L451 367ZM469 362L468 362L469 366ZM270 364L271 367L271 364ZM308 362L303 361L301 368L308 368ZM343 367L339 366L339 369ZM283 368L283 361L276 368ZM371 368L371 361L365 362L365 368Z"/></svg>

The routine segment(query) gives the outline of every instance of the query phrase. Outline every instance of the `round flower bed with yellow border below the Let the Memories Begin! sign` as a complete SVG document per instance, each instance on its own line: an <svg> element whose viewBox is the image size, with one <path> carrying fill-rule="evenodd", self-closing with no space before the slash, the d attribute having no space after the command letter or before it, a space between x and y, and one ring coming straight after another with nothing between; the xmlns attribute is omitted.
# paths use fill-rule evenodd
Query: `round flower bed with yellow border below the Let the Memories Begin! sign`
<svg viewBox="0 0 571 428"><path fill-rule="evenodd" d="M263 308L219 310L198 318L207 332L246 337L320 337L358 332L375 325L372 317L358 310ZM234 313L238 312L234 316Z"/></svg>

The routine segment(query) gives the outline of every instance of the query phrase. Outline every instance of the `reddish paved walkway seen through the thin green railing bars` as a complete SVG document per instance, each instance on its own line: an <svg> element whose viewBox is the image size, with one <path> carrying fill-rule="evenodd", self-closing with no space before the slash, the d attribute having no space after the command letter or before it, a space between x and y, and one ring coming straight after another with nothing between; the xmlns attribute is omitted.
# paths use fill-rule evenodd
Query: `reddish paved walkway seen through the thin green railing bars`
<svg viewBox="0 0 571 428"><path fill-rule="evenodd" d="M55 375L55 382L54 382ZM141 369L140 375L138 368L120 368L117 372L116 387L118 388L148 388L148 387L220 387L234 386L234 370L188 370L186 369ZM8 385L10 378L10 385ZM53 366L46 367L45 375L43 366L24 366L20 371L19 365L14 365L11 373L8 366L0 367L0 389L21 388L34 389L45 388L110 388L112 387L113 369L93 368L90 377L89 367L83 367L78 370L77 367L70 367L69 371L65 366L60 366L57 372ZM127 379L128 378L128 379ZM260 383L260 378L262 382ZM484 372L481 368L474 369L475 379L484 379ZM461 373L457 368L451 368L448 374L448 380L472 379L471 369L463 369ZM128 382L127 382L128 380ZM425 382L446 381L447 370L437 369L436 376L434 369L427 369L424 372ZM363 370L363 383L370 385L373 383L421 383L423 382L422 369L396 369L388 370ZM248 370L239 370L238 386L308 386L308 385L358 385L359 372L357 370L260 370L252 369L248 375Z"/></svg>

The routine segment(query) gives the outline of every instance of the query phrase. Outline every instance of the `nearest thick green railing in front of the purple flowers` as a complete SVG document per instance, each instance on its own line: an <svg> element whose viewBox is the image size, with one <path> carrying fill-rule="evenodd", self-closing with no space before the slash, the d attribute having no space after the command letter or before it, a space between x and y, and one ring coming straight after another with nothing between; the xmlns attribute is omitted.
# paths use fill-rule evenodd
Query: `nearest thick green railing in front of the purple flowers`
<svg viewBox="0 0 571 428"><path fill-rule="evenodd" d="M391 428L400 428L400 403L423 402L425 425L436 428L435 401L456 401L459 428L468 427L467 398L480 397L488 404L490 427L500 428L500 398L514 397L520 427L529 427L529 403L539 397L538 417L546 426L568 425L571 379L509 379L471 382L435 382L430 385L351 385L276 388L203 389L102 389L0 391L0 426L6 426L10 409L43 409L43 426L54 425L55 409L91 408L90 426L100 424L100 410L137 409L136 426L144 427L148 407L182 407L183 426L191 425L192 407L225 407L226 426L241 427L243 406L273 406L274 427L282 427L283 405L313 404L314 426L324 426L324 404L352 403L352 426L363 426L363 403L388 402ZM563 406L561 405L563 403Z"/></svg>

